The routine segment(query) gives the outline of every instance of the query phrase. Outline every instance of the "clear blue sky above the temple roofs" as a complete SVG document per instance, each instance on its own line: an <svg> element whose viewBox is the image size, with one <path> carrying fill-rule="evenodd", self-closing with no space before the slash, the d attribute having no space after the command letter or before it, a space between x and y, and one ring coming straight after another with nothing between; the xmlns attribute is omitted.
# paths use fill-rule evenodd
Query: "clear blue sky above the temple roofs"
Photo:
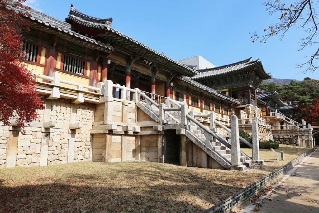
<svg viewBox="0 0 319 213"><path fill-rule="evenodd" d="M282 41L277 37L267 44L250 41L250 32L263 32L278 20L266 13L262 2L29 0L35 9L60 20L65 20L71 4L88 15L113 17L112 27L175 60L201 55L221 66L253 57L260 58L274 78L319 79L319 71L305 74L295 67L315 48L297 51L305 36L300 29L292 28Z"/></svg>

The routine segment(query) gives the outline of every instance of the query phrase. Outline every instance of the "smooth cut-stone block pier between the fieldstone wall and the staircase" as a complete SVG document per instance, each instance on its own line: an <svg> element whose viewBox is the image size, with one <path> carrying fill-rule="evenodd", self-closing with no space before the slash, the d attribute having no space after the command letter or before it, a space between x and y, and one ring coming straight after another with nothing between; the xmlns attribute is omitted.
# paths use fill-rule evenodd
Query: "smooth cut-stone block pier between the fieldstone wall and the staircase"
<svg viewBox="0 0 319 213"><path fill-rule="evenodd" d="M121 162L135 160L135 102L108 98L95 106L92 160Z"/></svg>

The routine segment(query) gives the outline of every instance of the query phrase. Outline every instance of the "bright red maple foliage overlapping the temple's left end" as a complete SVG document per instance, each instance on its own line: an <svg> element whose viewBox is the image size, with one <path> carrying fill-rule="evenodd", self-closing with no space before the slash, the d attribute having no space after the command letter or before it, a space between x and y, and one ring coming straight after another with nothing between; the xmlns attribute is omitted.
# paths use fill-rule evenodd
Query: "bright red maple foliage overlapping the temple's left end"
<svg viewBox="0 0 319 213"><path fill-rule="evenodd" d="M20 127L37 120L37 110L44 109L34 88L36 80L22 63L21 31L28 30L23 18L27 13L12 10L27 9L25 1L0 0L0 122L9 125L16 119Z"/></svg>

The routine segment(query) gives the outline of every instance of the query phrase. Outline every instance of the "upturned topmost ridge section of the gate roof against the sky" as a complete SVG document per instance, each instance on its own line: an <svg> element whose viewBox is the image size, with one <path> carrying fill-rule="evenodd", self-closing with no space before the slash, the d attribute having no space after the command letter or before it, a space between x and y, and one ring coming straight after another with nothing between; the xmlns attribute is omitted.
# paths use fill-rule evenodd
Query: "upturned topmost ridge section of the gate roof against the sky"
<svg viewBox="0 0 319 213"><path fill-rule="evenodd" d="M103 30L106 26L111 26L113 18L99 19L92 16L88 16L75 9L75 7L73 7L73 5L71 4L71 10L65 20L72 20L86 27L99 28Z"/></svg>

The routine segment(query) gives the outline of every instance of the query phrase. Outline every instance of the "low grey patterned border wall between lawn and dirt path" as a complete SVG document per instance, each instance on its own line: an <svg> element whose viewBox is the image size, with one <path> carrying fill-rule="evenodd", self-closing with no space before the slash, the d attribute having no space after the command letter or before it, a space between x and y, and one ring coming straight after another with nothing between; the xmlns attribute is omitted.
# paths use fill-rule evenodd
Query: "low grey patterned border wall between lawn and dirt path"
<svg viewBox="0 0 319 213"><path fill-rule="evenodd" d="M285 166L279 168L276 171L271 172L269 175L264 177L263 179L247 186L246 188L242 189L241 191L233 194L229 198L217 203L215 206L206 209L203 213L226 213L229 212L236 206L246 202L249 198L260 192L267 186L272 180L277 178L279 175L286 173L289 171L294 164L296 164L301 158L308 156L310 153L315 151L315 148L308 150L307 152L301 154L300 156L296 157Z"/></svg>

